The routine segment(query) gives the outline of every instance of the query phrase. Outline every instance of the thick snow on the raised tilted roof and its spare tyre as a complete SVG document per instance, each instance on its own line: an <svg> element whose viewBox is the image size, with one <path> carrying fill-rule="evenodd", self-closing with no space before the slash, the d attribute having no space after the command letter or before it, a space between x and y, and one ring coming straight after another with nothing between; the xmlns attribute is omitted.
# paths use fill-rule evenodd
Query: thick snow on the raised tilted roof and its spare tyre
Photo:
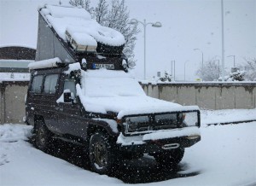
<svg viewBox="0 0 256 186"><path fill-rule="evenodd" d="M49 26L53 26L55 32L64 41L67 41L66 33L68 32L78 44L90 45L96 44L96 42L111 46L125 44L125 38L120 32L101 26L96 20L91 19L90 14L85 9L45 5L39 11ZM92 39L95 39L96 42L92 42Z"/></svg>

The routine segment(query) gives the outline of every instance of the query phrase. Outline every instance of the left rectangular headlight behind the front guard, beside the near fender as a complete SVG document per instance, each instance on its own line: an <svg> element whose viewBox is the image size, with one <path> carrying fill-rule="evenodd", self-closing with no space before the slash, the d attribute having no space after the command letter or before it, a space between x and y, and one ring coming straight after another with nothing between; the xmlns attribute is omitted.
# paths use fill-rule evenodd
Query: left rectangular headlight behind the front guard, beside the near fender
<svg viewBox="0 0 256 186"><path fill-rule="evenodd" d="M134 116L125 118L125 133L132 131L147 131L149 127L148 116Z"/></svg>

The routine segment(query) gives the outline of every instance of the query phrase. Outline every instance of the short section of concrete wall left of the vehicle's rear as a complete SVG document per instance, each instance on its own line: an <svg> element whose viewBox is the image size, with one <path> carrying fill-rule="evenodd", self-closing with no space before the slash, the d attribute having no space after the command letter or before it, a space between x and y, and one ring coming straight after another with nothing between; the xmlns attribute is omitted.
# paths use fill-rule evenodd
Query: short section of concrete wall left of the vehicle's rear
<svg viewBox="0 0 256 186"><path fill-rule="evenodd" d="M24 123L27 81L0 82L0 124Z"/></svg>

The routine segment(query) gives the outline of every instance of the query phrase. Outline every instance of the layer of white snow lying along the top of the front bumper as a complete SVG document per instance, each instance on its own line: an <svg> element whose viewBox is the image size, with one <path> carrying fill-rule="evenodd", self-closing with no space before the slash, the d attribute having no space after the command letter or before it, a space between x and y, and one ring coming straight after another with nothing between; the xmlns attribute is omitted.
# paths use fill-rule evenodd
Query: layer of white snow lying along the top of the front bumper
<svg viewBox="0 0 256 186"><path fill-rule="evenodd" d="M151 133L141 136L125 137L122 133L119 134L117 143L121 146L143 145L148 141L167 140L176 137L186 137L187 139L195 139L200 137L200 130L196 126L184 127L165 131L151 131Z"/></svg>

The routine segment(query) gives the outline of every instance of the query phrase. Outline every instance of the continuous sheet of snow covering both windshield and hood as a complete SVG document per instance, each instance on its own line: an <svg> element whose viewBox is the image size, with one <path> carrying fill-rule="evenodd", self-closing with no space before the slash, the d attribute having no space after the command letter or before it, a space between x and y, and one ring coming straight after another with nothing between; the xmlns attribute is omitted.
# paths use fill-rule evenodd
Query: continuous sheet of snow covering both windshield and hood
<svg viewBox="0 0 256 186"><path fill-rule="evenodd" d="M121 119L131 114L198 109L146 96L131 73L99 69L83 71L82 76L82 88L77 84L77 92L88 112L112 111L118 113L118 118Z"/></svg>

